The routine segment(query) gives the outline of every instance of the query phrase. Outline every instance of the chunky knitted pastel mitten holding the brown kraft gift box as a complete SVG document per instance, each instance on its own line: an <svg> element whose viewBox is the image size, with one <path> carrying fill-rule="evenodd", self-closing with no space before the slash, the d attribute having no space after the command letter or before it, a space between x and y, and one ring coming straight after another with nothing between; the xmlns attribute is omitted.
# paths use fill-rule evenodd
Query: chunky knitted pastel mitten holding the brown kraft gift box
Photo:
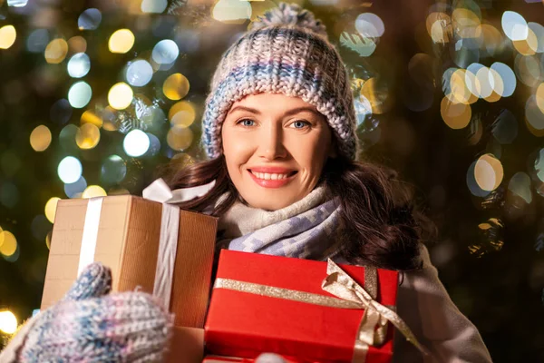
<svg viewBox="0 0 544 363"><path fill-rule="evenodd" d="M24 324L0 363L162 361L170 314L150 294L111 289L111 270L92 263L61 301Z"/></svg>

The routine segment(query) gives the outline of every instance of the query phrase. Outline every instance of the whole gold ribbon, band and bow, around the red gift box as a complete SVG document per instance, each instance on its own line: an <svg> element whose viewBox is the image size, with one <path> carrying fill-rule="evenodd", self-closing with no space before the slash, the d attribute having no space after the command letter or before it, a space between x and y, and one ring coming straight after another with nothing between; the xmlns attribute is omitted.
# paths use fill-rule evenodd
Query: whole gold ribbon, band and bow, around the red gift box
<svg viewBox="0 0 544 363"><path fill-rule="evenodd" d="M287 299L341 309L364 309L363 319L355 337L354 363L364 363L368 347L379 347L384 344L387 335L387 323L391 321L403 336L418 348L423 355L429 353L417 341L412 330L401 319L394 307L385 307L377 302L378 275L374 268L364 268L364 284L368 289L361 287L344 270L332 260L328 260L327 276L321 284L321 288L335 297L298 291L295 289L283 289L273 286L261 285L231 279L216 279L214 289L231 289L239 292L247 292L268 298Z"/></svg>

